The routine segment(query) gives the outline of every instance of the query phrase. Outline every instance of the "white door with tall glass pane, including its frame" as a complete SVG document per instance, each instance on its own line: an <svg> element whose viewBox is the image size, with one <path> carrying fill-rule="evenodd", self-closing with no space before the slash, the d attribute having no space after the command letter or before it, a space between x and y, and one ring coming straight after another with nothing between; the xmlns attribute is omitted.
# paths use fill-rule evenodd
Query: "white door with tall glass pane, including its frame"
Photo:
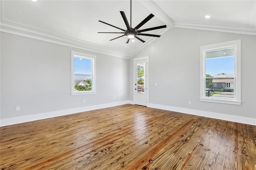
<svg viewBox="0 0 256 170"><path fill-rule="evenodd" d="M134 95L135 105L147 106L148 103L148 57L134 59Z"/></svg>

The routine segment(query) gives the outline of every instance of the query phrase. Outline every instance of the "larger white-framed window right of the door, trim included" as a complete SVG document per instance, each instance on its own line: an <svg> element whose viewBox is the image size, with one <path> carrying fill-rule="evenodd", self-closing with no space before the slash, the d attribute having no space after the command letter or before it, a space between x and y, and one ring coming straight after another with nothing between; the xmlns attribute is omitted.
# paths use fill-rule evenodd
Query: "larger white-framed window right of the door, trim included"
<svg viewBox="0 0 256 170"><path fill-rule="evenodd" d="M200 47L200 101L241 105L241 40Z"/></svg>

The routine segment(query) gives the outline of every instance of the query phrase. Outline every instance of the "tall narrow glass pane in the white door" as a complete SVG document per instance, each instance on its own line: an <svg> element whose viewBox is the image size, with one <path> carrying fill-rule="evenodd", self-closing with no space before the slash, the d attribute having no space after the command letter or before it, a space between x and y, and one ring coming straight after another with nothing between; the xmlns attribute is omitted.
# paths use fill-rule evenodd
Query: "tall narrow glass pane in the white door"
<svg viewBox="0 0 256 170"><path fill-rule="evenodd" d="M145 65L145 62L137 63L137 93L145 93Z"/></svg>

